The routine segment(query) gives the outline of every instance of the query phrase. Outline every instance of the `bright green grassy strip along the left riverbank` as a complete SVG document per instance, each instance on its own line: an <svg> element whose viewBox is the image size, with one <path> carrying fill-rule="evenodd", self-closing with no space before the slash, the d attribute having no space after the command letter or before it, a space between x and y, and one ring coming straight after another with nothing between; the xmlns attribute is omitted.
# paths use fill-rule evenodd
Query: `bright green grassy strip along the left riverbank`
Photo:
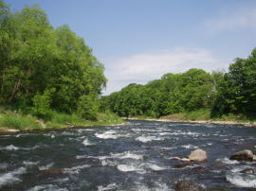
<svg viewBox="0 0 256 191"><path fill-rule="evenodd" d="M97 121L88 121L77 114L51 113L51 119L44 122L30 114L12 113L0 109L0 127L16 130L43 130L68 127L106 126L123 123L114 113L100 113ZM45 127L44 127L45 126Z"/></svg>

